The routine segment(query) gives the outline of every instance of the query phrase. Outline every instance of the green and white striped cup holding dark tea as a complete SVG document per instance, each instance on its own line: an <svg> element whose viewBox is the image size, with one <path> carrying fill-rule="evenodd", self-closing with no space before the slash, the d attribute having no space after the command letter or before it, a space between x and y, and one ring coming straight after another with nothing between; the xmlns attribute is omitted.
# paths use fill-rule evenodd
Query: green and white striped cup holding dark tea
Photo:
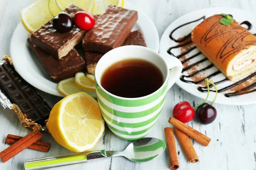
<svg viewBox="0 0 256 170"><path fill-rule="evenodd" d="M163 74L164 83L154 93L138 98L113 95L101 85L104 71L113 63L139 58L154 63ZM146 136L162 111L166 92L179 78L182 64L172 56L163 57L150 48L127 45L106 53L97 63L95 70L96 93L99 107L110 130L124 140L135 140Z"/></svg>

